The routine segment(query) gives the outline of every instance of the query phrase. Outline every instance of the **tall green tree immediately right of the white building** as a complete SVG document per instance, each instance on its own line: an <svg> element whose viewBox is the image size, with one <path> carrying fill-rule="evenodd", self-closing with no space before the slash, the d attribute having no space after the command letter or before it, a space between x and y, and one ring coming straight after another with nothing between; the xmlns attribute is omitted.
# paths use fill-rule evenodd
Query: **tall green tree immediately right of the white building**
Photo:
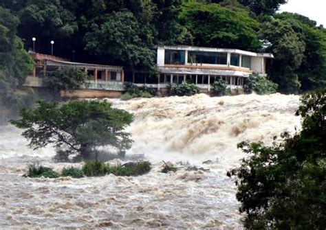
<svg viewBox="0 0 326 230"><path fill-rule="evenodd" d="M304 58L305 42L294 32L290 23L271 19L261 25L265 51L274 54L270 77L279 84L282 93L297 93L301 84L296 70Z"/></svg>

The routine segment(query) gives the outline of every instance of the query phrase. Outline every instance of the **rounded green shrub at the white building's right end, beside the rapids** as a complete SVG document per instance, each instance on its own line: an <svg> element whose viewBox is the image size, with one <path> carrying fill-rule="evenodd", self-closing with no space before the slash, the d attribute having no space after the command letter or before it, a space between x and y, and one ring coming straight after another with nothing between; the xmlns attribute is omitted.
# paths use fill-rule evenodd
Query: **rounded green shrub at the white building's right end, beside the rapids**
<svg viewBox="0 0 326 230"><path fill-rule="evenodd" d="M246 79L243 90L245 93L256 92L259 95L271 94L277 92L278 85L271 82L264 76L258 74L252 74Z"/></svg>

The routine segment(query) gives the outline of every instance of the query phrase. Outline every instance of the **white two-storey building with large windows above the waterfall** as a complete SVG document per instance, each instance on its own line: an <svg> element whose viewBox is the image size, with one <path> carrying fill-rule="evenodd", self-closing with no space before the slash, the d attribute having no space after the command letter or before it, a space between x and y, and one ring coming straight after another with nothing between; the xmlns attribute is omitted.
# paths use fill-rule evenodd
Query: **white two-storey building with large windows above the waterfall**
<svg viewBox="0 0 326 230"><path fill-rule="evenodd" d="M187 80L210 91L210 84L221 78L231 89L242 88L250 74L266 74L267 58L274 56L239 49L158 46L157 67L161 71L158 82L160 87L169 87Z"/></svg>

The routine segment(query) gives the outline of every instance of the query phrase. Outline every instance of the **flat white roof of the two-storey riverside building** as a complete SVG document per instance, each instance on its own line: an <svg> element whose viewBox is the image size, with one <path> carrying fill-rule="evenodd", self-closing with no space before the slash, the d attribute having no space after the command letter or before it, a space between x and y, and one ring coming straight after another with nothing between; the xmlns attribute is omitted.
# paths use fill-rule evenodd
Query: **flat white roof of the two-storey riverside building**
<svg viewBox="0 0 326 230"><path fill-rule="evenodd" d="M270 53L255 53L251 51L245 51L241 49L224 49L224 48L212 48L212 47L195 47L188 45L157 45L157 49L174 49L174 50L188 50L188 51L207 51L207 52L230 52L234 54L242 54L253 57L274 58Z"/></svg>

